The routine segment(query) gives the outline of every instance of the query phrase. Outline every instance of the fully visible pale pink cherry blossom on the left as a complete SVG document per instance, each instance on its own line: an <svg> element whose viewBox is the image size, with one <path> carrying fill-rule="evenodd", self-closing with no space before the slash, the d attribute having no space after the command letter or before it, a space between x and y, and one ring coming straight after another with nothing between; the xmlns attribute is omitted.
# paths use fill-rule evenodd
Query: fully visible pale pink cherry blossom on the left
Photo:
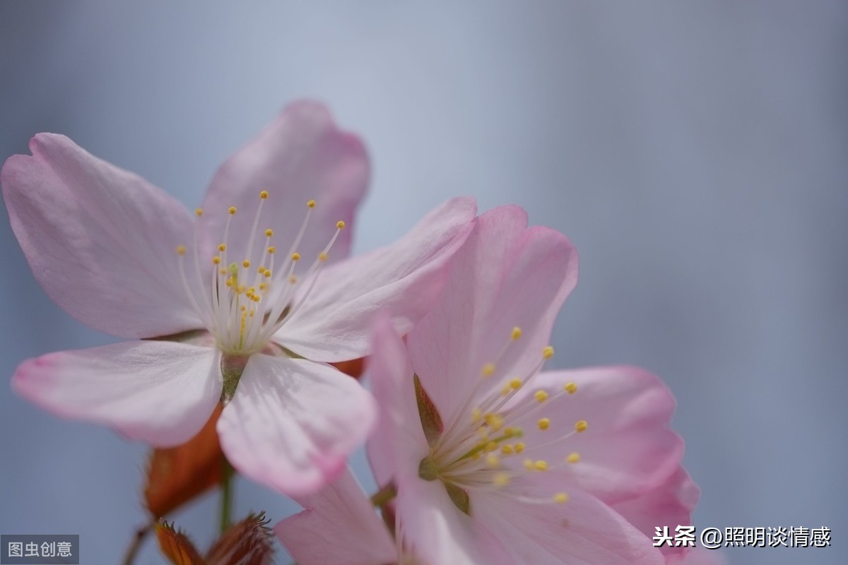
<svg viewBox="0 0 848 565"><path fill-rule="evenodd" d="M409 330L476 213L457 198L392 246L346 259L368 161L314 102L224 163L193 218L64 136L30 148L0 182L36 280L82 323L142 341L25 361L14 390L155 446L191 438L222 399L227 457L289 493L338 474L374 422L371 396L325 362L369 352L378 308Z"/></svg>

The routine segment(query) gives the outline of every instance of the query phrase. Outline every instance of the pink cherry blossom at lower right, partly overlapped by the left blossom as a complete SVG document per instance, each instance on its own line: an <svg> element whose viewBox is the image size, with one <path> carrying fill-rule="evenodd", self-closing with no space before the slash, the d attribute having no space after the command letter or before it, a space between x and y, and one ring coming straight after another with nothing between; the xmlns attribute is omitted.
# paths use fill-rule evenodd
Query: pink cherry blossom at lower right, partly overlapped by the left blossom
<svg viewBox="0 0 848 565"><path fill-rule="evenodd" d="M644 525L653 535L689 523L697 497L668 429L670 392L639 368L539 372L576 280L565 236L497 208L476 220L405 344L377 324L382 416L369 458L378 485L396 487L404 553L430 564L665 562Z"/></svg>

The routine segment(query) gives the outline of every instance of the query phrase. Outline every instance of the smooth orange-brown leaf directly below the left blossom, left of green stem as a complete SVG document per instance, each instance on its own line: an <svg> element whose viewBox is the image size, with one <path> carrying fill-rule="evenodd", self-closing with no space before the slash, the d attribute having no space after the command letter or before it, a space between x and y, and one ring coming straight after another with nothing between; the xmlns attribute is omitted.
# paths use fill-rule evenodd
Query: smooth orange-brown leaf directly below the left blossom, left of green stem
<svg viewBox="0 0 848 565"><path fill-rule="evenodd" d="M224 453L215 424L221 408L218 404L204 428L187 443L153 450L144 488L144 501L153 518L167 515L220 483Z"/></svg>

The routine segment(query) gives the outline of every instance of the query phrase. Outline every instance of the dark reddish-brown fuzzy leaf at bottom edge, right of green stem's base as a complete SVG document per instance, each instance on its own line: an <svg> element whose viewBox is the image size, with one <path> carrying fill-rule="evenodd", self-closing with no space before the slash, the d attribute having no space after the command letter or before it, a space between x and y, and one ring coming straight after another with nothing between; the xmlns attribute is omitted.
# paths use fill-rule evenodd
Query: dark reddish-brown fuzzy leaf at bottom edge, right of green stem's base
<svg viewBox="0 0 848 565"><path fill-rule="evenodd" d="M274 555L270 521L263 512L233 524L209 548L206 561L209 565L269 565Z"/></svg>

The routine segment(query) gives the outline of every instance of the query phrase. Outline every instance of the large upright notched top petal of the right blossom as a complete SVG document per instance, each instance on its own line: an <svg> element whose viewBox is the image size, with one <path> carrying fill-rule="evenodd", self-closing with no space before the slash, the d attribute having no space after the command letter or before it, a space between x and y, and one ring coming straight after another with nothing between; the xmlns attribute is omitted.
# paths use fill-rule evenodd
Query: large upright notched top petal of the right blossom
<svg viewBox="0 0 848 565"><path fill-rule="evenodd" d="M443 418L466 402L484 364L498 361L496 386L533 372L576 283L577 253L565 235L527 230L527 214L514 206L477 219L451 263L444 294L408 339L412 365ZM510 343L516 326L522 337Z"/></svg>

